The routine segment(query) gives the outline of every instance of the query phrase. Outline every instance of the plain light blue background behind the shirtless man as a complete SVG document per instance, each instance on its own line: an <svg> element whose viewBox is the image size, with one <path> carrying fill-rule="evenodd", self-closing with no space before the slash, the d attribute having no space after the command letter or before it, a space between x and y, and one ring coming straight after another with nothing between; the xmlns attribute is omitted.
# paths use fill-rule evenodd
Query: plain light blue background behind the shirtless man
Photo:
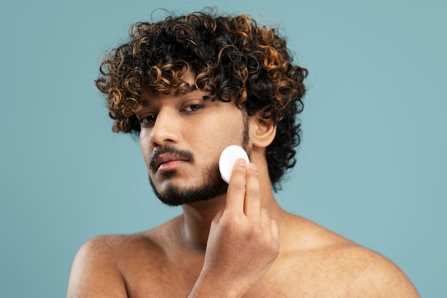
<svg viewBox="0 0 447 298"><path fill-rule="evenodd" d="M281 205L447 297L447 1L291 2L1 1L0 297L64 297L86 240L181 212L154 197L93 81L133 22L214 5L280 26L310 71Z"/></svg>

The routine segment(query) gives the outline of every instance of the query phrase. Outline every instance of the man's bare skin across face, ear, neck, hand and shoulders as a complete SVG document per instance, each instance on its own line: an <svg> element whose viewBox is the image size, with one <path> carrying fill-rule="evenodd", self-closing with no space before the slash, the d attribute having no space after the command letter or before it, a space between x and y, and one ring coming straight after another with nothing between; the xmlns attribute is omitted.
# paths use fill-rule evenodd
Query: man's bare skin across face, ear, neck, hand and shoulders
<svg viewBox="0 0 447 298"><path fill-rule="evenodd" d="M241 110L204 95L142 96L141 152L157 192L204 185L221 151L243 141ZM386 257L278 205L265 158L276 125L257 115L248 125L251 163L236 161L224 195L182 205L151 230L89 240L67 297L419 297ZM151 169L156 148L167 146L194 160L174 155Z"/></svg>

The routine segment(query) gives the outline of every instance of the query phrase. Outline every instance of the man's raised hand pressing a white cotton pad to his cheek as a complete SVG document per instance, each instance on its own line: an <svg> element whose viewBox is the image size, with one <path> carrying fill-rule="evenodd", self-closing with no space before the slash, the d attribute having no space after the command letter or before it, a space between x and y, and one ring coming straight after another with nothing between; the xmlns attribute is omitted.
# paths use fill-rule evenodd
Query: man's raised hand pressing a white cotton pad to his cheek
<svg viewBox="0 0 447 298"><path fill-rule="evenodd" d="M246 165L242 159L236 161L226 205L214 217L207 243L204 267L196 286L211 282L208 288L219 292L216 296L213 291L213 297L243 296L278 256L278 224L261 208L254 164Z"/></svg>

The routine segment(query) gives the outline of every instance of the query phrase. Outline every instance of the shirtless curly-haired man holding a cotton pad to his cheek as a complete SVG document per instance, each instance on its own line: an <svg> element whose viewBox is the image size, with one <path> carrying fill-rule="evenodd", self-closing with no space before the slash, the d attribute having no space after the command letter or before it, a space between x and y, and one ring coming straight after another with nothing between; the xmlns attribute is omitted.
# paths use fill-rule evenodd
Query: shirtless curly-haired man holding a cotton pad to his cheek
<svg viewBox="0 0 447 298"><path fill-rule="evenodd" d="M275 200L307 71L246 16L135 24L101 64L114 131L139 135L154 192L183 214L86 242L67 297L418 297L393 262ZM228 185L219 156L241 145Z"/></svg>

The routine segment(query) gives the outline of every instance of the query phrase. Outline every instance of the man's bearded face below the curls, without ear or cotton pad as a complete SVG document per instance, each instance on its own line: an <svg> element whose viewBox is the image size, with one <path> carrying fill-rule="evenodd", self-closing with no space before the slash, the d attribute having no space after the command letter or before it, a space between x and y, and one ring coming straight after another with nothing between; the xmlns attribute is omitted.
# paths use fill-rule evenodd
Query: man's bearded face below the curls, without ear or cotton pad
<svg viewBox="0 0 447 298"><path fill-rule="evenodd" d="M194 78L188 76L186 81ZM248 118L234 103L204 101L206 92L144 94L140 146L149 180L167 205L224 195L219 156L228 145L248 150ZM248 150L249 151L249 150ZM249 152L248 152L249 154Z"/></svg>

